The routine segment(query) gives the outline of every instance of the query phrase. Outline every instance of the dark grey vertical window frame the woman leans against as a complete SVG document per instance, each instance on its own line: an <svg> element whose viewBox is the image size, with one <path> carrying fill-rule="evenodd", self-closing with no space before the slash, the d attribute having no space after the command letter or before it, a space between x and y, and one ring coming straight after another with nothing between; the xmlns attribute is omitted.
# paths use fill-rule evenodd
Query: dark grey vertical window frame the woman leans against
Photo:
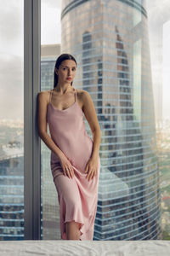
<svg viewBox="0 0 170 256"><path fill-rule="evenodd" d="M41 89L41 0L24 0L24 237L41 239L41 142L37 93Z"/></svg>

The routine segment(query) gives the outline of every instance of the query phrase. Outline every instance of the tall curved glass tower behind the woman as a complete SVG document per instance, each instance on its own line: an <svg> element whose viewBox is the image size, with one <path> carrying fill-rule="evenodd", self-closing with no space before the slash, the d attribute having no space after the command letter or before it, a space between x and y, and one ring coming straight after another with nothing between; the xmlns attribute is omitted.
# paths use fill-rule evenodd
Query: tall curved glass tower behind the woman
<svg viewBox="0 0 170 256"><path fill-rule="evenodd" d="M73 86L92 96L102 132L94 240L159 239L159 172L144 1L63 0L61 28L61 53L77 60Z"/></svg>

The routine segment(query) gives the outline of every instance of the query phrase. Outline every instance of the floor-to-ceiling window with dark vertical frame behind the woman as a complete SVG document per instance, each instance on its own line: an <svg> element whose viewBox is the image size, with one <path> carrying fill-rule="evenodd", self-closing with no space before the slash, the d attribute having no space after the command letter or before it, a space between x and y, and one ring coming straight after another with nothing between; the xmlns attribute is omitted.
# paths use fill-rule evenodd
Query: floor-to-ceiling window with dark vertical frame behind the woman
<svg viewBox="0 0 170 256"><path fill-rule="evenodd" d="M36 110L37 92L54 87L62 53L76 57L74 86L92 96L102 132L94 240L170 239L170 3L0 5L0 240L60 239Z"/></svg>

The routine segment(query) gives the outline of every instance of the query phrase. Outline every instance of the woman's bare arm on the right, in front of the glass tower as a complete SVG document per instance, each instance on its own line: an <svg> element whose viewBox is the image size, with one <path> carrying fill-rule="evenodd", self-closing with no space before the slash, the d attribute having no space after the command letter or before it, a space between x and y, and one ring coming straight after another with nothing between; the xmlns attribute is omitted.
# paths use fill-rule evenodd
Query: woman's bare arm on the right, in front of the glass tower
<svg viewBox="0 0 170 256"><path fill-rule="evenodd" d="M94 108L94 102L92 101L92 98L87 90L83 90L82 102L82 110L84 112L86 119L88 120L88 124L91 128L94 140L94 147L91 158L96 158L99 155L101 131L99 128L99 122Z"/></svg>

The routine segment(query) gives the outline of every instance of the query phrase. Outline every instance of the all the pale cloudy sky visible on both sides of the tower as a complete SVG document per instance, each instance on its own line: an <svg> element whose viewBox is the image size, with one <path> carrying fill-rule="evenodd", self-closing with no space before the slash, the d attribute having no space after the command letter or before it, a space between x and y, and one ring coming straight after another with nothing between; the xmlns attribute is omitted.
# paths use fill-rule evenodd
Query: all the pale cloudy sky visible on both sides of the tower
<svg viewBox="0 0 170 256"><path fill-rule="evenodd" d="M23 3L24 0L0 0L0 120L23 119ZM156 74L156 70L160 68L159 55L155 54L156 51L160 53L159 44L156 44L156 40L159 40L156 28L160 23L165 22L165 19L170 20L170 1L147 0L146 3L149 16L150 57L153 76L154 73ZM42 44L60 44L61 0L42 0L41 4ZM167 25L167 31L168 27L170 29L170 26ZM164 41L168 42L169 38L166 34L164 34L164 38ZM167 59L170 59L170 56ZM167 60L166 63L168 67L170 64ZM166 81L169 79L167 77ZM168 84L168 82L166 83ZM164 84L166 83L164 79ZM169 95L169 88L166 85L163 95L165 115L168 115L167 110L169 108L169 99L167 99L169 96L167 97L167 95Z"/></svg>

